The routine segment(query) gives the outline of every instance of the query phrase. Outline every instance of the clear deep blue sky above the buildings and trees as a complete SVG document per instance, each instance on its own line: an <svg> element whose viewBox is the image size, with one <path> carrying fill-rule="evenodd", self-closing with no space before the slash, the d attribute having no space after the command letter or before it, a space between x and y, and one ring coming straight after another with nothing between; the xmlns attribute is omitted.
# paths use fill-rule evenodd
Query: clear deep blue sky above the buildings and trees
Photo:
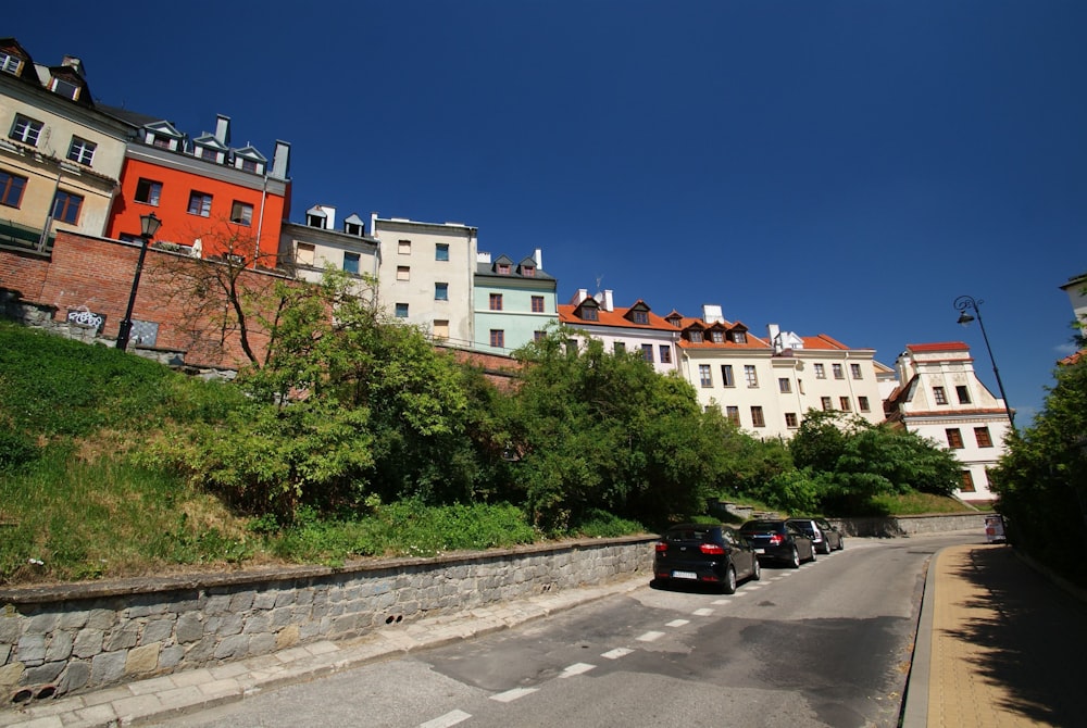
<svg viewBox="0 0 1087 728"><path fill-rule="evenodd" d="M63 0L9 23L105 103L291 142L296 222L461 222L541 248L563 302L600 279L886 364L961 339L996 393L967 293L1021 424L1071 352L1083 0Z"/></svg>

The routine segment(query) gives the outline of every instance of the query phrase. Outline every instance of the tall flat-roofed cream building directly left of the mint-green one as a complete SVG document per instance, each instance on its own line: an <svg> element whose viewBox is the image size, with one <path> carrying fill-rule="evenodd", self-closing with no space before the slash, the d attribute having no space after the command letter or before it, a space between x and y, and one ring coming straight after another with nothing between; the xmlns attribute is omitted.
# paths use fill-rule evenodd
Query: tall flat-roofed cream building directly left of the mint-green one
<svg viewBox="0 0 1087 728"><path fill-rule="evenodd" d="M473 274L478 230L371 214L377 241L378 296L398 318L454 347L472 346Z"/></svg>

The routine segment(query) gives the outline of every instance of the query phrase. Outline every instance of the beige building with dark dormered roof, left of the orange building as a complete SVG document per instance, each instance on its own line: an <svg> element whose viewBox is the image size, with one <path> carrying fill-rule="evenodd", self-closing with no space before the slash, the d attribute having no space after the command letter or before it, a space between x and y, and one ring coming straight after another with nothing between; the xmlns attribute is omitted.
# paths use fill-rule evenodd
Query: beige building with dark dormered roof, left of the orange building
<svg viewBox="0 0 1087 728"><path fill-rule="evenodd" d="M40 249L60 230L102 235L130 127L95 103L79 59L45 66L0 39L0 235Z"/></svg>

